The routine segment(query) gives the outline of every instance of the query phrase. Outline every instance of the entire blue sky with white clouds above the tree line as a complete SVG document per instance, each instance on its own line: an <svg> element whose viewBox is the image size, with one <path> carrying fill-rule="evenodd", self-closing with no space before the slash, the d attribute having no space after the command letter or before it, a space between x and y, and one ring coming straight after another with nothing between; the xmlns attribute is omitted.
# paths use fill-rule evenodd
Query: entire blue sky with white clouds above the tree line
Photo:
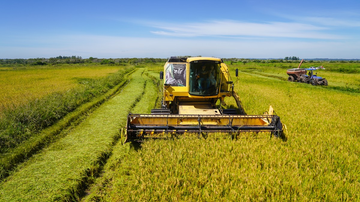
<svg viewBox="0 0 360 202"><path fill-rule="evenodd" d="M359 0L13 0L0 5L1 59L360 58Z"/></svg>

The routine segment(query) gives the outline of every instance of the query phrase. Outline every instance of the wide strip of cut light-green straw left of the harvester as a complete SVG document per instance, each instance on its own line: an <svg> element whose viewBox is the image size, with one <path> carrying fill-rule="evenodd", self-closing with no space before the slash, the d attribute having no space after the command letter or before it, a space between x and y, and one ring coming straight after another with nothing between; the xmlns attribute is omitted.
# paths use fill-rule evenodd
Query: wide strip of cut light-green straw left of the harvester
<svg viewBox="0 0 360 202"><path fill-rule="evenodd" d="M0 185L0 201L77 200L110 156L129 109L144 93L143 69L66 136L18 166Z"/></svg>

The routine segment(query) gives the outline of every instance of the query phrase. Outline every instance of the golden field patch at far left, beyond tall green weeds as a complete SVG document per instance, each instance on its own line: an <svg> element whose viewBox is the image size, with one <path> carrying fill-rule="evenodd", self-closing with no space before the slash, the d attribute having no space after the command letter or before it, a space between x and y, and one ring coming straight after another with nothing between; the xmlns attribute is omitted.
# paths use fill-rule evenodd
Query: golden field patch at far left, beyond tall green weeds
<svg viewBox="0 0 360 202"><path fill-rule="evenodd" d="M25 104L53 92L79 85L79 78L99 78L123 67L109 65L60 65L0 71L0 110Z"/></svg>

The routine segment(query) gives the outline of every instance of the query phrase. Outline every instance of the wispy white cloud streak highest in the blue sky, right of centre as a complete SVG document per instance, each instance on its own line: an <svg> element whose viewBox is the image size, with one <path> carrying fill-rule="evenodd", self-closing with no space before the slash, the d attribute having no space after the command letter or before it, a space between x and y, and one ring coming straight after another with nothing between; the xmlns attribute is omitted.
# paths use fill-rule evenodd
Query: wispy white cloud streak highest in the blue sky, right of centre
<svg viewBox="0 0 360 202"><path fill-rule="evenodd" d="M250 23L234 20L212 20L204 23L157 23L152 24L158 31L156 35L177 37L199 36L248 36L248 37L286 37L309 39L343 39L343 36L323 33L327 27L305 23L269 22Z"/></svg>

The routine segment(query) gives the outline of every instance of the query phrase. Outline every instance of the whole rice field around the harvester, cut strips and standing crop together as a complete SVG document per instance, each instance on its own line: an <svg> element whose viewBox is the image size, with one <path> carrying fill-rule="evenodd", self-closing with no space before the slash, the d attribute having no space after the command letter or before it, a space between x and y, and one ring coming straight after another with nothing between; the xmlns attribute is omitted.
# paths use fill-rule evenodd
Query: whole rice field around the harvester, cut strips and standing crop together
<svg viewBox="0 0 360 202"><path fill-rule="evenodd" d="M233 80L240 70L235 90L247 114L272 105L287 125L285 142L264 135L122 145L127 114L149 113L161 94L162 66L138 66L111 99L19 164L0 183L0 201L360 201L360 94L330 88L359 88L360 74L334 66L318 73L329 87L311 86L284 81L280 65L230 68Z"/></svg>

